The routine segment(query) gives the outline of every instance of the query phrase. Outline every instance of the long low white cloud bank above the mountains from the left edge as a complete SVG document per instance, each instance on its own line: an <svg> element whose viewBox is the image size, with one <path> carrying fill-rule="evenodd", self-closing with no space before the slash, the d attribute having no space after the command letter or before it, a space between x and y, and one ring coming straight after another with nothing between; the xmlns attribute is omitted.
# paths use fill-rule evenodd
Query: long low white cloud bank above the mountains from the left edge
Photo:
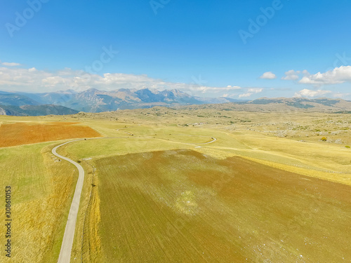
<svg viewBox="0 0 351 263"><path fill-rule="evenodd" d="M48 72L35 67L29 69L0 67L0 90L11 89L41 93L67 89L81 91L88 88L100 90L117 90L119 88L179 89L192 95L200 95L201 93L228 93L232 95L235 90L241 89L239 86L210 87L194 83L174 83L153 79L146 74L105 73L101 76L69 68Z"/></svg>

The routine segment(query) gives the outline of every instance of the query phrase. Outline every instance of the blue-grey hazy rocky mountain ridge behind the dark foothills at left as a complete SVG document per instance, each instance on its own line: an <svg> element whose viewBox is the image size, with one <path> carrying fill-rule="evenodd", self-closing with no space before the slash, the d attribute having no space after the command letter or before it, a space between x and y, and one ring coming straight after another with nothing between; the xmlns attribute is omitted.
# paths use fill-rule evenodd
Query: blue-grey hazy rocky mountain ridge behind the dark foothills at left
<svg viewBox="0 0 351 263"><path fill-rule="evenodd" d="M0 95L1 96L1 95ZM91 88L81 92L63 90L51 93L10 93L5 97L18 96L15 106L23 104L57 104L79 112L108 112L117 109L138 109L153 106L174 107L177 105L225 103L235 101L230 98L194 97L180 90L140 90L121 88L119 90L97 90ZM0 104L11 104L8 100Z"/></svg>

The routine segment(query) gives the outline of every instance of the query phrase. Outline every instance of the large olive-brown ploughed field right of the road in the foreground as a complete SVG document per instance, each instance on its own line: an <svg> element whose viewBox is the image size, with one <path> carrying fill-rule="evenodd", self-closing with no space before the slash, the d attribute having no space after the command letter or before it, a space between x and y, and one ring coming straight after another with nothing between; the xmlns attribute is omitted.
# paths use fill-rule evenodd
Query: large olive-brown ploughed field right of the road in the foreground
<svg viewBox="0 0 351 263"><path fill-rule="evenodd" d="M350 262L351 187L241 157L95 161L101 262Z"/></svg>

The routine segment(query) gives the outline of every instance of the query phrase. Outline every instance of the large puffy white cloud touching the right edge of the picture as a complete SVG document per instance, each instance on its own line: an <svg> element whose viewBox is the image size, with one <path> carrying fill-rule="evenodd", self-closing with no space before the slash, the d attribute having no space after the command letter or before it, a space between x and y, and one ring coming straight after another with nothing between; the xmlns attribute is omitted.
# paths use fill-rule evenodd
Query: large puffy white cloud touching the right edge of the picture
<svg viewBox="0 0 351 263"><path fill-rule="evenodd" d="M300 79L299 83L323 85L339 84L351 81L351 66L341 66L328 72L318 72L317 74L306 74Z"/></svg>

